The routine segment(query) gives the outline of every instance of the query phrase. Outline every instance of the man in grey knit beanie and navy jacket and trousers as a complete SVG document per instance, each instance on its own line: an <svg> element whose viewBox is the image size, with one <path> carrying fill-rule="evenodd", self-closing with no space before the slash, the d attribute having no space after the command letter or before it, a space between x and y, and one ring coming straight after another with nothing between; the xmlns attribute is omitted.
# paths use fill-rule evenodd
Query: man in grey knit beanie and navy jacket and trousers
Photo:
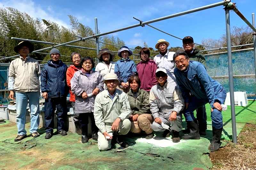
<svg viewBox="0 0 256 170"><path fill-rule="evenodd" d="M68 85L66 80L67 65L60 60L60 51L52 48L51 60L44 65L41 73L41 91L45 99L44 120L45 139L53 135L54 112L57 107L57 131L60 135L67 135L64 130L64 121L67 115Z"/></svg>

